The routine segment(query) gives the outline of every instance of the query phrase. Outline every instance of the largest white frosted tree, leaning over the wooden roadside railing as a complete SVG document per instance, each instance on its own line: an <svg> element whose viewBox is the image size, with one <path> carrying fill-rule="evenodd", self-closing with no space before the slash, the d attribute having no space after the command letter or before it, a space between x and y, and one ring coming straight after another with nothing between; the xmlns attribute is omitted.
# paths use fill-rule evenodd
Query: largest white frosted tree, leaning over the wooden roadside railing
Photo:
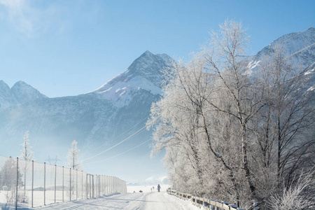
<svg viewBox="0 0 315 210"><path fill-rule="evenodd" d="M241 25L233 21L225 22L221 34L212 36L213 41L204 52L195 54L190 62L174 64L167 76L165 97L153 105L148 125L158 124L155 148L183 145L191 154L187 159L200 180L195 183L206 180L214 185L213 189L220 189L223 197L240 200L239 183L247 181L248 185L243 184L242 188L250 191L253 198L248 123L264 105L244 75L247 36ZM255 103L251 103L253 100ZM216 181L210 180L210 172Z"/></svg>

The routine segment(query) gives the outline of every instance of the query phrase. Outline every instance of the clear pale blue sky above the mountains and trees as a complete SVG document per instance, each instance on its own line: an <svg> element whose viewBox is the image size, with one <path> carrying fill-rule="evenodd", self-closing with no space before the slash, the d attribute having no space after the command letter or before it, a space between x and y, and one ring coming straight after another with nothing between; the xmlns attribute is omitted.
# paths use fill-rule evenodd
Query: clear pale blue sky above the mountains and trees
<svg viewBox="0 0 315 210"><path fill-rule="evenodd" d="M315 1L0 0L0 80L48 97L82 94L122 73L144 51L187 58L226 18L258 50L315 24Z"/></svg>

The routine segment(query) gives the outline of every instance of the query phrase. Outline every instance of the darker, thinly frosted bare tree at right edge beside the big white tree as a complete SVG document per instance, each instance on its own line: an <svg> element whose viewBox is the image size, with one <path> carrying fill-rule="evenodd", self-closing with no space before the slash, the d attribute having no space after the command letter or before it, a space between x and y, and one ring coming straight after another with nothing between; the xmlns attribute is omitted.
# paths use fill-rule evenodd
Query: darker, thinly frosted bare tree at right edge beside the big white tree
<svg viewBox="0 0 315 210"><path fill-rule="evenodd" d="M269 98L260 111L253 144L255 183L260 197L295 188L297 178L314 167L314 93L307 91L304 69L291 62L281 45L262 58L255 79Z"/></svg>

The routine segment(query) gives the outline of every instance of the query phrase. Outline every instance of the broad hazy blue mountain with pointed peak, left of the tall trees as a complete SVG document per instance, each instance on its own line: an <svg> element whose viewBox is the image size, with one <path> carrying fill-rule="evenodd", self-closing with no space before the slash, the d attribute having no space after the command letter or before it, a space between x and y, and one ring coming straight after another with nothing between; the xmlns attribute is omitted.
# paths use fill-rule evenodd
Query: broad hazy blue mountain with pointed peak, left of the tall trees
<svg viewBox="0 0 315 210"><path fill-rule="evenodd" d="M146 51L102 87L73 97L38 97L26 101L27 96L37 96L27 84L19 82L10 89L0 83L1 95L15 95L15 101L21 102L0 111L0 141L19 147L23 134L29 130L34 148L58 147L63 153L73 139L85 148L116 144L144 127L152 102L161 97L161 70L167 69L170 62L172 58L168 55ZM151 132L141 130L135 137L124 146L135 146L149 139ZM0 154L3 151L0 148ZM44 154L55 156L50 150Z"/></svg>

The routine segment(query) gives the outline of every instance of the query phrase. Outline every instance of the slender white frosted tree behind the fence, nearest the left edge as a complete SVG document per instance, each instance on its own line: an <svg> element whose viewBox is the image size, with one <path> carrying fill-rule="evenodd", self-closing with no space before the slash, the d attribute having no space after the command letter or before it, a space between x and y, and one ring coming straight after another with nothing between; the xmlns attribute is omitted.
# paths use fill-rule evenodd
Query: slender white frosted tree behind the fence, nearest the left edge
<svg viewBox="0 0 315 210"><path fill-rule="evenodd" d="M25 202L27 170L31 166L31 160L34 160L33 151L31 151L31 146L29 144L29 131L25 132L25 135L23 137L23 143L21 144L21 146L22 146L22 150L21 150L20 160L23 160L23 162L21 162L20 165L22 165L22 170L24 173L23 202Z"/></svg>

